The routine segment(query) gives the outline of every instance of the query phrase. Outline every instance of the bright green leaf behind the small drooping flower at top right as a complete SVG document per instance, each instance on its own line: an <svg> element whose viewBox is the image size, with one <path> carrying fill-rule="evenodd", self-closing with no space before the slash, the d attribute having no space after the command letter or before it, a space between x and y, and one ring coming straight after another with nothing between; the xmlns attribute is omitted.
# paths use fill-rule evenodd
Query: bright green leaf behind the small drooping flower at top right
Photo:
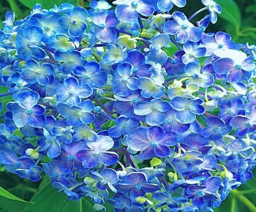
<svg viewBox="0 0 256 212"><path fill-rule="evenodd" d="M222 6L222 14L219 17L233 23L238 31L241 26L241 11L236 2L233 0L216 0L216 2Z"/></svg>

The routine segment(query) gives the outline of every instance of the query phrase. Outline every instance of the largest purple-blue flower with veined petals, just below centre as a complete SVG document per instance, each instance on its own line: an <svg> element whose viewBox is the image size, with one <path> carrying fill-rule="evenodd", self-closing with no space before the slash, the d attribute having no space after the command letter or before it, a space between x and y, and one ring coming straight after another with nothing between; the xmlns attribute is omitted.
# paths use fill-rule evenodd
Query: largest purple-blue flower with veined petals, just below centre
<svg viewBox="0 0 256 212"><path fill-rule="evenodd" d="M134 151L140 151L140 159L152 159L155 156L170 155L169 146L178 143L175 132L164 131L161 126L138 126L129 132L127 145Z"/></svg>

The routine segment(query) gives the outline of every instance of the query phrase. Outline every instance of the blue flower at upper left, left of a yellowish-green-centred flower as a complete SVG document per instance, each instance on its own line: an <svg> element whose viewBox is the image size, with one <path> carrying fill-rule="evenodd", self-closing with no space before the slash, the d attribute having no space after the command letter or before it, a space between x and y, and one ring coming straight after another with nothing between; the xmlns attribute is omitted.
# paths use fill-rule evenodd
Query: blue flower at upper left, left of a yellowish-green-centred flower
<svg viewBox="0 0 256 212"><path fill-rule="evenodd" d="M15 39L18 56L29 59L31 56L45 58L45 51L40 47L43 31L38 26L27 26L19 30Z"/></svg>

